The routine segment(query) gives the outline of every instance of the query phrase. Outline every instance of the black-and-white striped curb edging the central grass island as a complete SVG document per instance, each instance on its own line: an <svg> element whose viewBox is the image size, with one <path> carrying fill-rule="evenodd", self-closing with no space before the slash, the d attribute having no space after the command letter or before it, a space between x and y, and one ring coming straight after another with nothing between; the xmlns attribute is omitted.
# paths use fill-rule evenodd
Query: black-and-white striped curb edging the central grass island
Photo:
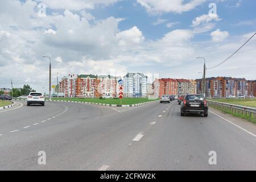
<svg viewBox="0 0 256 182"><path fill-rule="evenodd" d="M14 99L15 101L26 101L26 100L22 100L22 99ZM46 100L48 101L48 100ZM149 102L142 102L139 104L130 104L130 105L116 105L116 104L102 104L102 103L96 103L96 102L82 102L82 101L64 101L64 100L52 100L50 102L72 102L72 103L79 103L79 104L91 104L91 105L101 105L101 106L109 106L109 107L137 107L137 106L141 106L141 105L145 105L145 104L150 104L152 102L159 102L159 100L155 100L155 101L149 101Z"/></svg>

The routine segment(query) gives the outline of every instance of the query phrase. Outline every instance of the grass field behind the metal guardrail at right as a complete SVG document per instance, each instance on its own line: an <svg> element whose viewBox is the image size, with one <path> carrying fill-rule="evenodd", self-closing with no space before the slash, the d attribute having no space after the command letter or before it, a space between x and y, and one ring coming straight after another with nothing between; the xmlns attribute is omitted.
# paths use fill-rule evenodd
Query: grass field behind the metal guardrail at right
<svg viewBox="0 0 256 182"><path fill-rule="evenodd" d="M217 102L225 102L228 104L235 104L235 105L241 105L241 106L247 106L247 107L256 107L256 98L250 99L250 98L240 98L240 99L233 99L233 98L222 98L222 99L213 99L211 101L217 101Z"/></svg>

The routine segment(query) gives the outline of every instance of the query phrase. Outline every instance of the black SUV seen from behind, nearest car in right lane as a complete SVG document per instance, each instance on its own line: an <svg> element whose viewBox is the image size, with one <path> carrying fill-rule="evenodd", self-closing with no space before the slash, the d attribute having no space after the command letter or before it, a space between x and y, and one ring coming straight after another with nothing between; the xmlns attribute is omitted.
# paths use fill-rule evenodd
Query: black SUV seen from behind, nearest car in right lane
<svg viewBox="0 0 256 182"><path fill-rule="evenodd" d="M204 96L201 94L187 94L181 102L180 115L185 113L200 113L208 117L208 105Z"/></svg>

